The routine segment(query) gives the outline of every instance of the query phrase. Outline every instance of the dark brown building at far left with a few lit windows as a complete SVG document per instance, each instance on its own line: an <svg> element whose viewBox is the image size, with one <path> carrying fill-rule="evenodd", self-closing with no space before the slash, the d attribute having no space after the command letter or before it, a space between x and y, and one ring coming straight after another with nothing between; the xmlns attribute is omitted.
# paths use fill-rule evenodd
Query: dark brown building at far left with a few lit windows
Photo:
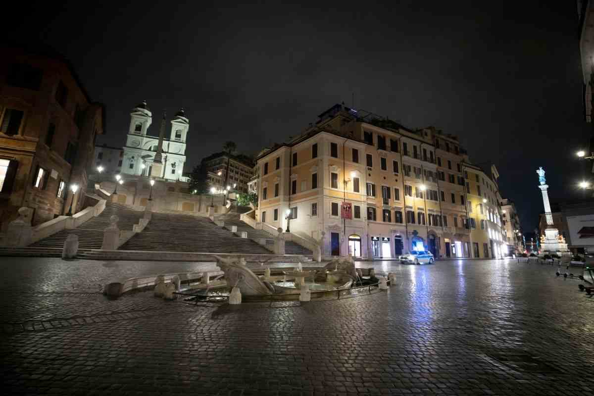
<svg viewBox="0 0 594 396"><path fill-rule="evenodd" d="M103 105L91 102L74 69L48 50L5 47L0 65L0 221L30 209L31 224L84 204ZM78 185L72 193L70 187Z"/></svg>

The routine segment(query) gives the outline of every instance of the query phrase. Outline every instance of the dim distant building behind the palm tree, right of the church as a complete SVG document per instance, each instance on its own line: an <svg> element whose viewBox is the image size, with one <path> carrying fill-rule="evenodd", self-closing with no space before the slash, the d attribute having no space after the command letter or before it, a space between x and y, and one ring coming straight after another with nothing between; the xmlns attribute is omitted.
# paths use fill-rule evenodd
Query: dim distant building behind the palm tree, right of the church
<svg viewBox="0 0 594 396"><path fill-rule="evenodd" d="M206 157L202 164L208 171L208 183L214 188L230 186L236 191L248 192L248 182L254 174L254 164L249 157L221 152Z"/></svg>

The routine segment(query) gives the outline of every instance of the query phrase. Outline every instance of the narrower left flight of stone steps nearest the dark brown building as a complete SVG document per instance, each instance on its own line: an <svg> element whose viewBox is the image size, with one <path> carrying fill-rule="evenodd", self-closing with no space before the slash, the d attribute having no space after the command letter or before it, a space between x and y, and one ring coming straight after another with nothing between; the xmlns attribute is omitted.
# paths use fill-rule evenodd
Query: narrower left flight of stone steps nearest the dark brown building
<svg viewBox="0 0 594 396"><path fill-rule="evenodd" d="M106 202L105 210L97 216L90 218L80 226L73 229L65 229L56 232L42 240L27 246L27 248L43 248L46 251L58 249L62 252L64 241L68 235L78 236L79 249L101 249L103 243L103 231L111 225L110 217L115 214L119 217L118 228L120 230L132 230L132 226L138 223L143 217L144 211L134 210L131 207L115 202Z"/></svg>

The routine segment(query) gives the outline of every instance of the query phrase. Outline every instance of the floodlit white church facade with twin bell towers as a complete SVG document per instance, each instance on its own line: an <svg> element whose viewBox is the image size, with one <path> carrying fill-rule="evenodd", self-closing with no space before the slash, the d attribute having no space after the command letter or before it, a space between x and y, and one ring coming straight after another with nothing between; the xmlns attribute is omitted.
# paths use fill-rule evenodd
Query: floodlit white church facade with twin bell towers
<svg viewBox="0 0 594 396"><path fill-rule="evenodd" d="M152 122L153 115L146 102L138 104L130 113L122 173L187 181L183 175L189 121L184 109L175 113L170 121L169 138L165 136L165 113L163 113L159 136L147 135Z"/></svg>

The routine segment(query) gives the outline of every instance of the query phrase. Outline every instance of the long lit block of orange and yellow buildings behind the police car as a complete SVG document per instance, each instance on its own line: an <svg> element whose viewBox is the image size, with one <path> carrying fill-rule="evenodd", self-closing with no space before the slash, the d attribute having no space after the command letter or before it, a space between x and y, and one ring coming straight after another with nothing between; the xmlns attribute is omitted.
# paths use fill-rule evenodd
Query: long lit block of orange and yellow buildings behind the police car
<svg viewBox="0 0 594 396"><path fill-rule="evenodd" d="M340 104L319 117L258 156L257 221L324 232L324 255L502 255L497 170L470 164L456 138Z"/></svg>

